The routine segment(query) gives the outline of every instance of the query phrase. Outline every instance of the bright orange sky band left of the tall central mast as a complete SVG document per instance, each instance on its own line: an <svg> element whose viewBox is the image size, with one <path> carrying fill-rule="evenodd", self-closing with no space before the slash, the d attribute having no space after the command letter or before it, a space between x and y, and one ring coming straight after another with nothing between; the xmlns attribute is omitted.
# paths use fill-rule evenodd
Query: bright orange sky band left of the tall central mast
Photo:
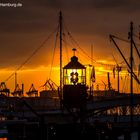
<svg viewBox="0 0 140 140"><path fill-rule="evenodd" d="M37 90L42 90L42 85L46 82L48 78L55 79L55 82L59 83L59 68L53 67L52 72L50 72L50 67L37 67L33 69L23 69L16 72L17 73L17 84L21 87L24 84L24 91L28 91L31 84L33 83ZM6 77L13 74L10 79L5 81ZM2 70L0 71L1 82L5 82L7 88L10 91L15 89L15 75L13 70Z"/></svg>

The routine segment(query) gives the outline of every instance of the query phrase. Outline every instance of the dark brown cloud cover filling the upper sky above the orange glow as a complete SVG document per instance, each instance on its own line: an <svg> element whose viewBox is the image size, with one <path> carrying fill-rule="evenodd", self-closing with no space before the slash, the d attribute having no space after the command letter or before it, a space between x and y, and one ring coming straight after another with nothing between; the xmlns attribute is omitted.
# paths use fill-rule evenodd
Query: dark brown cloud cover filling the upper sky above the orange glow
<svg viewBox="0 0 140 140"><path fill-rule="evenodd" d="M23 5L18 8L0 7L0 63L3 67L9 64L18 65L24 61L57 27L60 10L65 25L74 37L79 39L81 44L87 40L89 42L94 40L98 52L103 45L108 46L109 34L116 33L127 37L130 21L134 21L136 25L140 23L140 2L137 0L3 0L1 2L20 2ZM45 58L38 56L31 65L35 62L39 65L43 59Z"/></svg>

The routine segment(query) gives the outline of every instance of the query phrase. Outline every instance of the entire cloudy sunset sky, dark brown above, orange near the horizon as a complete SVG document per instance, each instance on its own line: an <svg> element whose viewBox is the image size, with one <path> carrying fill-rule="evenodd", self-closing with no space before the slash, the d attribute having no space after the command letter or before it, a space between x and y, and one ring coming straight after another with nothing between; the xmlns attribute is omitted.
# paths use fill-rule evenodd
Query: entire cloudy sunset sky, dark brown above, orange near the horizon
<svg viewBox="0 0 140 140"><path fill-rule="evenodd" d="M20 4L20 6L4 6L6 3ZM121 63L123 59L114 44L110 42L109 35L113 34L127 40L131 21L134 24L134 34L139 35L140 1L138 0L0 0L0 82L8 78L7 87L13 91L14 75L10 78L9 76L51 35L33 57L17 71L17 79L19 84L25 84L25 90L28 90L32 83L40 90L40 86L48 78L59 85L58 40L55 53L53 52L60 10L64 22L63 66L73 55L72 48L77 48L76 55L82 64L91 64L89 57L93 46L96 82L101 83L103 88L103 82L107 83L109 71L112 86L116 88L112 67L106 64L116 65L115 60ZM129 59L129 43L116 41ZM138 38L135 38L135 41L140 44ZM140 51L140 46L137 47ZM134 56L137 70L140 60L135 52ZM127 67L125 63L122 65L124 70L121 76L126 78Z"/></svg>

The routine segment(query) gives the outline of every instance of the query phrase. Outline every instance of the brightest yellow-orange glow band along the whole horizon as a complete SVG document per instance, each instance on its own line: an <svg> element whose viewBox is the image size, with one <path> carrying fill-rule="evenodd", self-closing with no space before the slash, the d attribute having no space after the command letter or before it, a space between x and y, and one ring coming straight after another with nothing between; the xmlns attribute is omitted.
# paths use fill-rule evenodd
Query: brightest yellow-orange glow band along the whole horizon
<svg viewBox="0 0 140 140"><path fill-rule="evenodd" d="M58 59L56 60L57 63ZM55 63L56 63L55 62ZM100 63L104 64L109 64L111 62L108 62L107 60L101 60L98 61ZM54 64L55 64L54 63ZM63 63L63 65L67 64L67 62ZM82 63L83 64L83 63ZM84 65L84 64L83 64ZM96 86L99 86L100 90L103 90L105 88L105 84L107 86L108 84L108 78L107 78L107 73L109 72L110 74L110 82L111 86L113 89L117 90L117 71L115 72L115 77L113 75L113 67L108 67L105 65L101 64L94 64L95 66L95 83L94 87L96 90ZM13 75L7 80L6 78L9 77L11 74ZM68 72L69 75L71 73ZM81 74L78 71L79 75ZM0 70L0 82L6 82L7 88L10 89L11 92L14 91L15 89L15 74L13 69L1 69ZM86 66L86 83L89 86L90 85L90 75L91 75L91 67ZM17 71L17 83L21 87L22 84L24 84L24 92L27 92L31 86L31 84L34 84L34 87L36 90L41 91L44 87L43 85L45 84L46 80L48 79L53 80L56 85L59 86L60 84L60 67L58 64L56 66L39 66L36 68L23 68L22 70ZM120 90L125 92L129 92L130 89L128 88L130 83L130 77L128 74L128 71L122 70L120 72ZM79 82L79 81L78 81ZM139 87L138 85L134 82L134 92L139 92Z"/></svg>

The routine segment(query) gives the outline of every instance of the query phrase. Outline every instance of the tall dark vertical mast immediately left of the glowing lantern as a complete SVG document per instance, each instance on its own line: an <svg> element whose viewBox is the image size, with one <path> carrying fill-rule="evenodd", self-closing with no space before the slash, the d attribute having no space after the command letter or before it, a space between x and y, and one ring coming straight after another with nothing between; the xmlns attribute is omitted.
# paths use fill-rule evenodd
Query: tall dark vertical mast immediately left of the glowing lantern
<svg viewBox="0 0 140 140"><path fill-rule="evenodd" d="M60 33L60 95L62 96L62 12L59 13L59 33Z"/></svg>

